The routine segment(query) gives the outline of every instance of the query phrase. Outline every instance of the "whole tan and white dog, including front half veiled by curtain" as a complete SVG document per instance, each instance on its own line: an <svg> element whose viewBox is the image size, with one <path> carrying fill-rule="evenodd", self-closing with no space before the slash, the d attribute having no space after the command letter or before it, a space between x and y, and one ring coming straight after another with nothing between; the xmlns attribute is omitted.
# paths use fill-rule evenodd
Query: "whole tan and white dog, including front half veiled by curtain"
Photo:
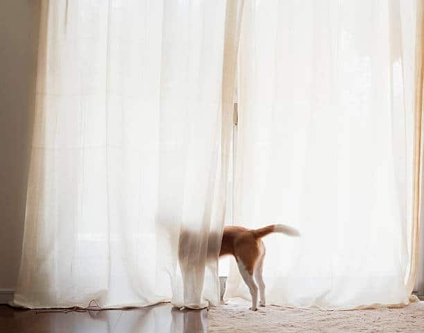
<svg viewBox="0 0 424 333"><path fill-rule="evenodd" d="M283 224L272 224L258 229L226 226L222 238L221 233L209 233L206 236L207 246L200 246L202 244L199 241L202 237L200 231L181 231L179 234L178 258L184 283L184 307L202 308L203 285L199 281L204 279L205 262L215 261L218 253L219 256L233 255L236 258L240 274L251 294L250 309L254 311L257 309L258 291L260 306L265 307L265 283L262 277L265 245L262 242L262 237L270 233L285 233L289 236L300 235L295 228ZM193 249L197 249L197 251L193 251Z"/></svg>

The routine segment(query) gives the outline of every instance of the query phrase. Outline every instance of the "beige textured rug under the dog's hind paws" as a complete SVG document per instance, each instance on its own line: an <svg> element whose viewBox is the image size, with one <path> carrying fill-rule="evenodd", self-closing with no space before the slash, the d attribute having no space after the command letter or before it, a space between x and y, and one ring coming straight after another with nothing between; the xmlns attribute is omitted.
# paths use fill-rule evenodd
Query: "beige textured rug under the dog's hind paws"
<svg viewBox="0 0 424 333"><path fill-rule="evenodd" d="M400 309L321 311L267 305L251 312L237 302L209 309L208 332L424 332L424 303Z"/></svg>

